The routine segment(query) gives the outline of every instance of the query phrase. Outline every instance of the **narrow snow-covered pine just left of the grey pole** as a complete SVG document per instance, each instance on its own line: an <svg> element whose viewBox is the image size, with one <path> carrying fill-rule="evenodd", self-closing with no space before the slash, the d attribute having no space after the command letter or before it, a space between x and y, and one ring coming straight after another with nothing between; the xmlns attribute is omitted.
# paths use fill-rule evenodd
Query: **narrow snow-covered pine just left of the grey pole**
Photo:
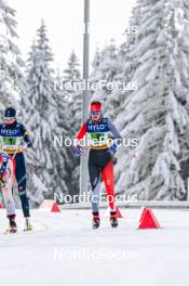
<svg viewBox="0 0 189 286"><path fill-rule="evenodd" d="M82 105L82 79L79 69L79 61L75 52L72 52L68 58L68 66L64 69L63 83L65 90L63 91L62 104L69 121L68 136L75 138L81 126L81 105ZM62 120L64 121L64 120ZM65 152L65 151L64 151ZM69 164L67 168L69 170L67 184L69 187L69 194L78 194L79 192L79 158L77 159L72 155L72 148L67 147L67 154L69 156ZM71 180L70 180L71 173Z"/></svg>

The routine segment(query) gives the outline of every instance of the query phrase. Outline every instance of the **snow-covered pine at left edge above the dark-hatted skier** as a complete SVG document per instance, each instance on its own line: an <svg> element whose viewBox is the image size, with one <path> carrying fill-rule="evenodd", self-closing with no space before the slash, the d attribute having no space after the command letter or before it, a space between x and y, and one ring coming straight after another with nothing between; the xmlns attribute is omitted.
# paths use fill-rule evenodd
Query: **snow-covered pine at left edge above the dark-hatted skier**
<svg viewBox="0 0 189 286"><path fill-rule="evenodd" d="M24 62L16 46L15 13L4 0L0 0L0 112L8 106L15 106L19 110L25 89L22 73Z"/></svg>

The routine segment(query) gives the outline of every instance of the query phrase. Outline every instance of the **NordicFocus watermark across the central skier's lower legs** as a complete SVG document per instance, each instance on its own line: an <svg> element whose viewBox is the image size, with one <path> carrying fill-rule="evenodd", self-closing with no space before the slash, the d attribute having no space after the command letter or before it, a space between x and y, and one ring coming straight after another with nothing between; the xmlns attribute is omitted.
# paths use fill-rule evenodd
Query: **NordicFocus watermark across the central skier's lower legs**
<svg viewBox="0 0 189 286"><path fill-rule="evenodd" d="M84 194L78 194L78 195L66 195L64 193L54 193L54 200L57 204L102 204L102 203L119 203L119 204L125 204L125 203L136 203L138 200L136 194L117 194L116 197L112 195L107 195L106 193L99 193L98 195L95 195L91 193L90 191Z"/></svg>

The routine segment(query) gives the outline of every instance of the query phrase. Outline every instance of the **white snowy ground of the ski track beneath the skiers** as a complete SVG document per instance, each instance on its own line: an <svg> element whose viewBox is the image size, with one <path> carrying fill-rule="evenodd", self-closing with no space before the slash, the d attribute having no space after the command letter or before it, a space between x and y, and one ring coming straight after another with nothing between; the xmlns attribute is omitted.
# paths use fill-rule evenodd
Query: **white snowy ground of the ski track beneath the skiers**
<svg viewBox="0 0 189 286"><path fill-rule="evenodd" d="M138 231L140 210L122 210L117 230L90 210L33 211L35 231L3 235L0 211L0 285L184 286L189 283L189 211L154 210L163 229Z"/></svg>

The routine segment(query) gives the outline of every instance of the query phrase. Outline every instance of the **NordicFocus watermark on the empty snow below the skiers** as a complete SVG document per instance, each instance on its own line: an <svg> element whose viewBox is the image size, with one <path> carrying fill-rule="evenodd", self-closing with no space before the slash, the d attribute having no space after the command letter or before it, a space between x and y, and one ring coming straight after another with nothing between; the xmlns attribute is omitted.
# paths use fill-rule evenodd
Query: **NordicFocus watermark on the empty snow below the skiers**
<svg viewBox="0 0 189 286"><path fill-rule="evenodd" d="M79 250L64 250L54 248L53 258L55 261L64 260L136 260L138 253L135 250L90 250L81 248Z"/></svg>

